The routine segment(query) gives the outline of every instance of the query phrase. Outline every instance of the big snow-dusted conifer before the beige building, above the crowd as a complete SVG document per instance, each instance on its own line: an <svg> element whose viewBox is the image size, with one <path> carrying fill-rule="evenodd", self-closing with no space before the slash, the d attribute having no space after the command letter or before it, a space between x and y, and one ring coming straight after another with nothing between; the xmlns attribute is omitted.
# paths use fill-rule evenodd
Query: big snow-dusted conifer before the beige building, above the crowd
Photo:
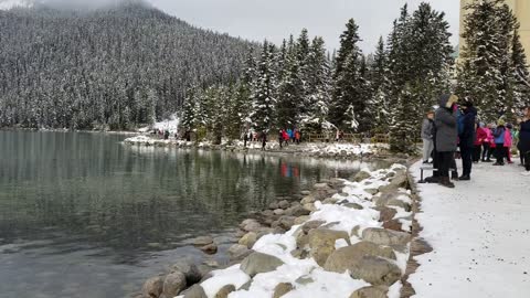
<svg viewBox="0 0 530 298"><path fill-rule="evenodd" d="M457 94L473 100L484 120L496 121L510 106L507 57L513 19L506 13L504 0L475 1L466 10Z"/></svg>

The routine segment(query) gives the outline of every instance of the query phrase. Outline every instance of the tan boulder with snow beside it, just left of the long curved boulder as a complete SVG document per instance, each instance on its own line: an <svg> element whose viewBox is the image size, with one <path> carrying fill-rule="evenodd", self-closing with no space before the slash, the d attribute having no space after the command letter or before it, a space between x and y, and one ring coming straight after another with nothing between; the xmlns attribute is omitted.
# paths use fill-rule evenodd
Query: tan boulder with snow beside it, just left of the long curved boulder
<svg viewBox="0 0 530 298"><path fill-rule="evenodd" d="M350 244L350 236L343 231L325 228L309 231L309 248L311 257L315 258L318 265L324 266L331 253L335 252L335 243L337 240L341 238Z"/></svg>

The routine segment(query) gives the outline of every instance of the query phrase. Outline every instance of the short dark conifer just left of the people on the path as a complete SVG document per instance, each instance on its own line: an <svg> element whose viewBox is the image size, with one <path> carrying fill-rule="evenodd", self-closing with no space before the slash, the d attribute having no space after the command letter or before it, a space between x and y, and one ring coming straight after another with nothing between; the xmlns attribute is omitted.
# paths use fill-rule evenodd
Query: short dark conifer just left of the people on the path
<svg viewBox="0 0 530 298"><path fill-rule="evenodd" d="M418 94L416 86L406 83L398 96L390 126L390 150L393 152L415 155L417 151L417 127L413 121L417 115L409 107L409 103L417 100Z"/></svg>

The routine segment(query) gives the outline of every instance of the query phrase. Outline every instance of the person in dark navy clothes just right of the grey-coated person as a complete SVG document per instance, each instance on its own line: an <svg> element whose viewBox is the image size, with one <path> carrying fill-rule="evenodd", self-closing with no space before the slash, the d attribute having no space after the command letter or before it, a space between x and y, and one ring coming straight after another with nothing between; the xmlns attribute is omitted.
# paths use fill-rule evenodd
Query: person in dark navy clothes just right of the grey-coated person
<svg viewBox="0 0 530 298"><path fill-rule="evenodd" d="M463 116L460 120L460 131L458 138L460 140L460 157L463 173L458 180L468 181L471 179L473 168L473 150L475 146L475 121L477 118L477 109L471 102L465 102L460 106Z"/></svg>

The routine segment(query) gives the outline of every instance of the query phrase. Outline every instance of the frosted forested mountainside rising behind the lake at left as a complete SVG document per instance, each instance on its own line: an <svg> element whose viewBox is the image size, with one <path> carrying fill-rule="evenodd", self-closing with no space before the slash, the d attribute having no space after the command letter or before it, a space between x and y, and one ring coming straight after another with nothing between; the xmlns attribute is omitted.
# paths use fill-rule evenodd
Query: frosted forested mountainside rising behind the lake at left
<svg viewBox="0 0 530 298"><path fill-rule="evenodd" d="M146 4L0 11L0 127L127 129L237 78L246 41Z"/></svg>

